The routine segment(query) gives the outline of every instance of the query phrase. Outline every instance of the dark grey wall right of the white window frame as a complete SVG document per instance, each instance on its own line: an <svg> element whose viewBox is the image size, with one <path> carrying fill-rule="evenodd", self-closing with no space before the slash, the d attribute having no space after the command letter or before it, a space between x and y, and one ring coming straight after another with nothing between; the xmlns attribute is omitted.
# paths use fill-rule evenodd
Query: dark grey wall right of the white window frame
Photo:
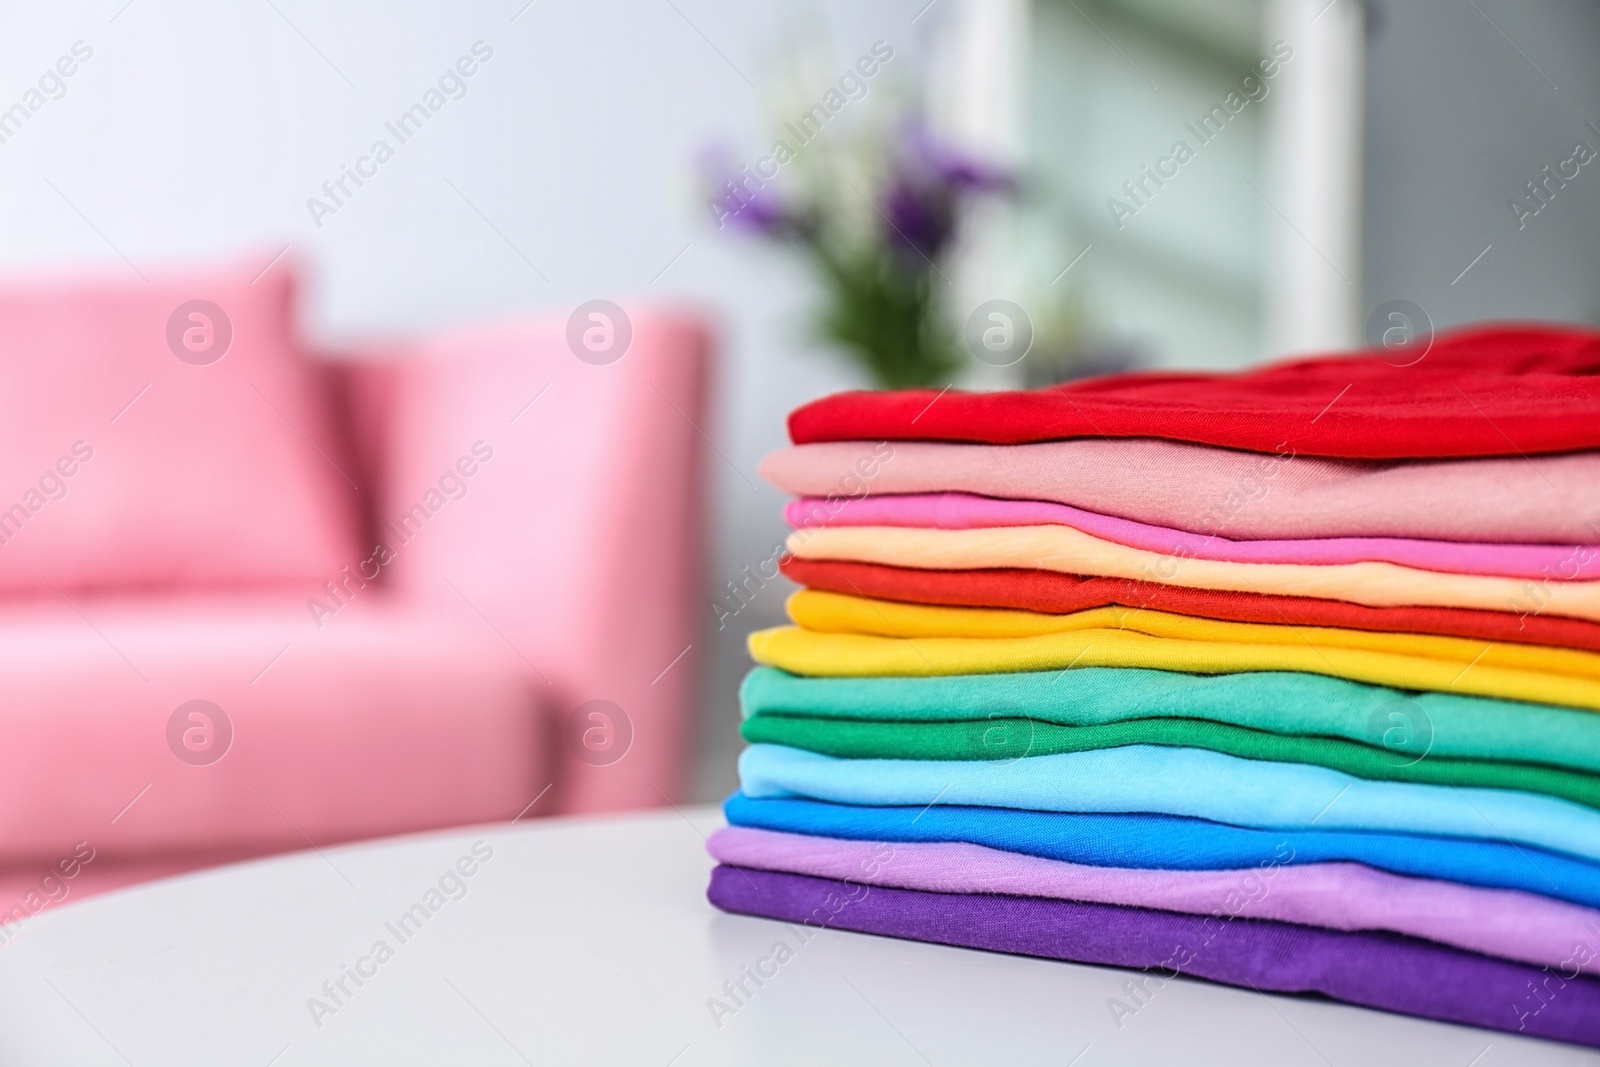
<svg viewBox="0 0 1600 1067"><path fill-rule="evenodd" d="M1600 152L1600 5L1475 3L1368 5L1365 307L1600 322L1600 158L1523 229L1507 206L1578 141Z"/></svg>

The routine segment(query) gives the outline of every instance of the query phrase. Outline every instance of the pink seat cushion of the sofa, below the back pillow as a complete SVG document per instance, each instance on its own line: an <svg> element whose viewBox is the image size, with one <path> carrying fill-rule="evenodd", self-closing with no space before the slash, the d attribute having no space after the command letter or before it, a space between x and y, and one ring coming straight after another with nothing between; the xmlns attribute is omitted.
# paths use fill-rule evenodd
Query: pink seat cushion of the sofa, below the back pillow
<svg viewBox="0 0 1600 1067"><path fill-rule="evenodd" d="M322 629L290 593L13 601L5 865L83 840L110 869L510 819L550 782L526 673L378 593Z"/></svg>

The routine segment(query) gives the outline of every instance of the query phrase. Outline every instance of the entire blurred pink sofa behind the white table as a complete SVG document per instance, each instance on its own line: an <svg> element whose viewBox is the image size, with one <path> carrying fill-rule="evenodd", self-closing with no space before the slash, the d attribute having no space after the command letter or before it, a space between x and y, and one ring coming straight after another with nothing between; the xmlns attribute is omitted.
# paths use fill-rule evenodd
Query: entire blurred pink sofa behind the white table
<svg viewBox="0 0 1600 1067"><path fill-rule="evenodd" d="M194 275L170 288L197 286L210 291ZM293 286L283 286L291 307ZM67 290L75 315L99 315L101 290ZM235 306L258 298L230 293ZM101 342L144 336L171 310L160 294L130 299L154 307L130 304L106 334L117 341ZM141 376L154 382L110 424L106 405L90 419L78 403L94 392L93 374L38 387L46 406L59 387L58 406L72 410L61 427L88 426L99 442L85 445L94 458L82 469L48 466L70 429L13 413L26 422L10 430L13 448L24 434L48 438L35 448L43 459L19 470L75 472L46 478L50 490L74 486L59 501L46 491L38 499L48 507L29 515L37 494L18 496L14 528L0 525L0 537L11 536L0 544L11 566L0 574L11 585L0 592L10 757L0 913L13 923L0 939L40 901L178 870L678 797L701 624L707 330L637 310L626 355L594 365L574 357L565 317L504 322L307 360L309 386L296 392L240 347L270 330L245 322L251 314L234 314L242 339L216 366L235 360L229 373L248 378L277 424L243 387L219 419L213 402L192 397L163 414L158 390L179 397L187 382L219 389L224 379L200 378L205 368L154 342L123 360L154 370L118 382L122 392L107 386L120 403ZM38 378L26 349L50 318L30 315L26 301L8 310L0 299L0 389L6 376L13 389L19 376ZM106 374L120 371L122 362ZM254 467L261 450L246 440L238 456L248 461L195 461L190 477L206 486L197 499L192 483L170 483L134 445L150 434L150 448L173 450L163 462L181 464L253 413L262 427L293 429L272 448L304 464L296 478L333 490L278 504L272 493L288 491ZM181 435L186 419L206 429L176 445L160 437ZM130 478L142 480L138 494ZM138 510L150 498L165 510ZM250 510L248 522L171 547L195 523L227 518L208 510L216 499ZM344 510L330 518L307 509ZM133 518L118 526L123 514ZM322 533L325 518L334 533ZM352 526L349 537L341 525ZM120 531L109 549L94 544L107 528ZM229 557L221 541L251 547ZM128 545L130 571L155 577L138 571L118 582L118 545ZM256 560L264 576L250 571ZM179 713L189 701L210 704L190 705L197 718ZM226 755L211 761L219 745Z"/></svg>

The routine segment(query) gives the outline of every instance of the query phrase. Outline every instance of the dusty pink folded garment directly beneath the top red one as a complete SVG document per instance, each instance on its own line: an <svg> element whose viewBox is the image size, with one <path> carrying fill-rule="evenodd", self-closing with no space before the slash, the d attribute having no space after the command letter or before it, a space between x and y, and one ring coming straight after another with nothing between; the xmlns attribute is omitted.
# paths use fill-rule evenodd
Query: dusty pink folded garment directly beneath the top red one
<svg viewBox="0 0 1600 1067"><path fill-rule="evenodd" d="M762 477L795 496L979 493L1248 541L1600 542L1600 453L1363 462L1147 438L837 442L773 453Z"/></svg>

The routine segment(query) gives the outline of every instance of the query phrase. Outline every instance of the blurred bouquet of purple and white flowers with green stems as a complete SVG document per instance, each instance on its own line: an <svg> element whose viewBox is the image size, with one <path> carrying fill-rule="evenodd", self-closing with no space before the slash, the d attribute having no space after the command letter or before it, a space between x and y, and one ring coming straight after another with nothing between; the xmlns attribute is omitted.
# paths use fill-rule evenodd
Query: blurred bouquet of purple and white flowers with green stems
<svg viewBox="0 0 1600 1067"><path fill-rule="evenodd" d="M923 122L888 136L818 146L779 194L741 168L709 168L720 226L794 248L826 298L816 331L885 389L947 382L965 357L946 309L942 266L970 202L1010 194L1010 174L939 141Z"/></svg>

